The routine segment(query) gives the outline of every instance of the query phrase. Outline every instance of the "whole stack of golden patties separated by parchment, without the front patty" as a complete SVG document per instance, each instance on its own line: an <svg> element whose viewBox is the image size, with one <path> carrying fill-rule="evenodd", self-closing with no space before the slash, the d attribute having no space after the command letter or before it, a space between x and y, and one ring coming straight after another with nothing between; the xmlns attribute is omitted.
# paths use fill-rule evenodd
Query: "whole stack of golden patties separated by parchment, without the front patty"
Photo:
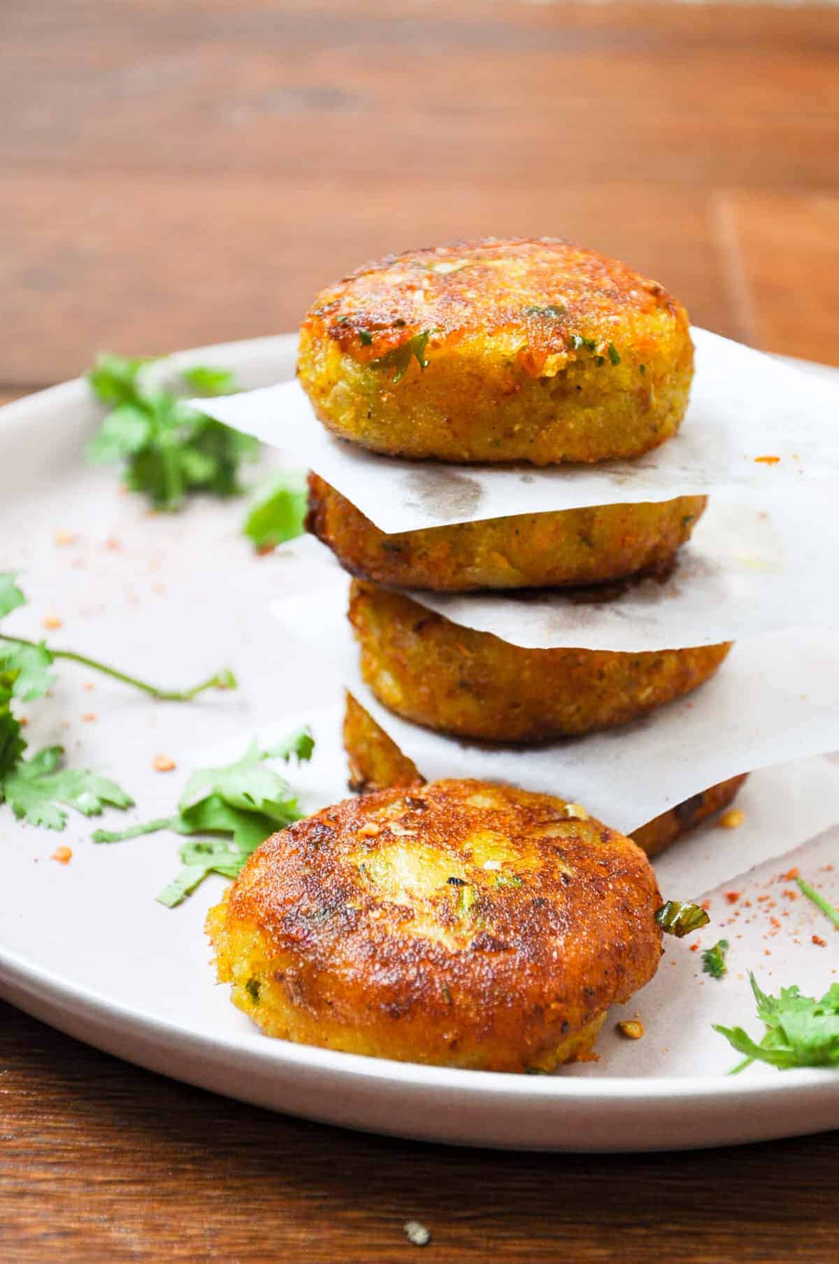
<svg viewBox="0 0 839 1264"><path fill-rule="evenodd" d="M662 286L566 241L489 239L390 255L325 289L302 325L298 375L323 425L375 453L548 466L633 459L666 442L692 368L687 313ZM526 511L526 487L522 502ZM312 474L308 530L356 576L349 613L361 675L385 708L457 738L531 743L624 724L680 698L714 675L730 643L523 648L408 592L662 575L704 508L691 495L385 535ZM359 782L418 776L353 699L345 739ZM637 837L660 849L740 781Z"/></svg>

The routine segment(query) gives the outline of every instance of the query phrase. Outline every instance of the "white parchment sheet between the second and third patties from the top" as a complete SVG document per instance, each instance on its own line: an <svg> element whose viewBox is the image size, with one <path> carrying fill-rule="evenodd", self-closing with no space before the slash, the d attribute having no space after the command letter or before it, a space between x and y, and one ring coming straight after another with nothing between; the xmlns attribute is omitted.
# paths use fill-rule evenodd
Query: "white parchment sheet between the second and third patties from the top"
<svg viewBox="0 0 839 1264"><path fill-rule="evenodd" d="M711 502L665 583L562 592L411 593L462 627L528 648L676 650L839 627L839 518L828 494L772 516Z"/></svg>

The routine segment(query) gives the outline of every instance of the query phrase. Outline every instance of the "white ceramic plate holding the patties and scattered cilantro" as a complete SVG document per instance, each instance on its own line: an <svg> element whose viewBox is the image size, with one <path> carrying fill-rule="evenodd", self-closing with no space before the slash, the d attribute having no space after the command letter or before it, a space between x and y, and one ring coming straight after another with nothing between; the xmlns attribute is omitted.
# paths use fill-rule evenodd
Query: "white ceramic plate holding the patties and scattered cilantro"
<svg viewBox="0 0 839 1264"><path fill-rule="evenodd" d="M229 365L243 384L259 386L291 373L293 354L293 339L281 337L203 349L188 360ZM120 494L112 470L85 466L83 441L96 416L77 382L0 413L1 566L23 573L32 600L8 629L42 635L40 621L57 616L63 626L51 633L56 643L172 685L230 662L241 689L190 707L153 704L61 665L53 696L27 708L33 748L63 742L71 762L110 772L140 805L129 819L142 820L171 810L182 777L207 752L234 753L259 729L311 718L320 753L291 779L311 805L340 798L337 667L325 661L317 679L303 678L268 613L272 599L291 603L317 585L311 541L255 557L240 536L241 502L198 502L178 517L147 514L140 498ZM57 533L73 541L58 545ZM317 627L306 636L323 636L326 645ZM152 770L159 751L177 761L174 772ZM97 847L90 834L100 822L71 817L58 836L18 825L5 808L0 814L0 994L154 1071L311 1119L471 1145L679 1149L839 1126L839 1076L752 1068L728 1078L735 1058L710 1026L739 1021L756 1031L744 976L761 963L762 981L773 987L824 990L833 981L838 940L804 900L783 909L777 900L778 911L794 914L780 932L757 915L735 921L732 914L724 983L701 976L687 945L668 945L657 978L632 1004L642 1012L644 1040L622 1042L608 1024L596 1064L553 1077L449 1071L262 1036L230 1005L226 988L214 985L202 921L222 880L210 878L177 910L154 901L178 867L173 836ZM118 828L124 819L111 813L107 824ZM49 860L59 842L73 849L67 866ZM835 852L835 834L821 836L788 863L819 871L820 885L829 890L834 882L839 899L839 875L821 872ZM749 875L743 909L749 892L753 910L766 908L758 889L778 895L776 871L777 863ZM714 909L721 920L724 901ZM816 932L829 938L828 951L810 945Z"/></svg>

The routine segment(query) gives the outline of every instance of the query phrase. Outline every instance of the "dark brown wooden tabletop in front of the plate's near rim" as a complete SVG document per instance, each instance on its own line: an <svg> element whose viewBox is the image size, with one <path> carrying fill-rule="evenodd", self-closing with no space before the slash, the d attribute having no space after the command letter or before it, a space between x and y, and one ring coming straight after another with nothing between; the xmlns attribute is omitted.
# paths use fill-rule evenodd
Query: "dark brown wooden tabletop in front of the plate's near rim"
<svg viewBox="0 0 839 1264"><path fill-rule="evenodd" d="M839 1134L716 1153L457 1150L270 1115L0 1006L10 1264L835 1259Z"/></svg>

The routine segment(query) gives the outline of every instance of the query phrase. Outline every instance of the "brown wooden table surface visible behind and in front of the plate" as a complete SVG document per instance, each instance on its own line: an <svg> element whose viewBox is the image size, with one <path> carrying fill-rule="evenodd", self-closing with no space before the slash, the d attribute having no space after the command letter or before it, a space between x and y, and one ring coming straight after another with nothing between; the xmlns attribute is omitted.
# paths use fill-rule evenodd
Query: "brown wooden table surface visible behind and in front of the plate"
<svg viewBox="0 0 839 1264"><path fill-rule="evenodd" d="M0 401L292 329L387 250L567 235L839 364L839 9L3 0ZM353 1135L0 1005L3 1264L820 1260L839 1134L634 1158Z"/></svg>

